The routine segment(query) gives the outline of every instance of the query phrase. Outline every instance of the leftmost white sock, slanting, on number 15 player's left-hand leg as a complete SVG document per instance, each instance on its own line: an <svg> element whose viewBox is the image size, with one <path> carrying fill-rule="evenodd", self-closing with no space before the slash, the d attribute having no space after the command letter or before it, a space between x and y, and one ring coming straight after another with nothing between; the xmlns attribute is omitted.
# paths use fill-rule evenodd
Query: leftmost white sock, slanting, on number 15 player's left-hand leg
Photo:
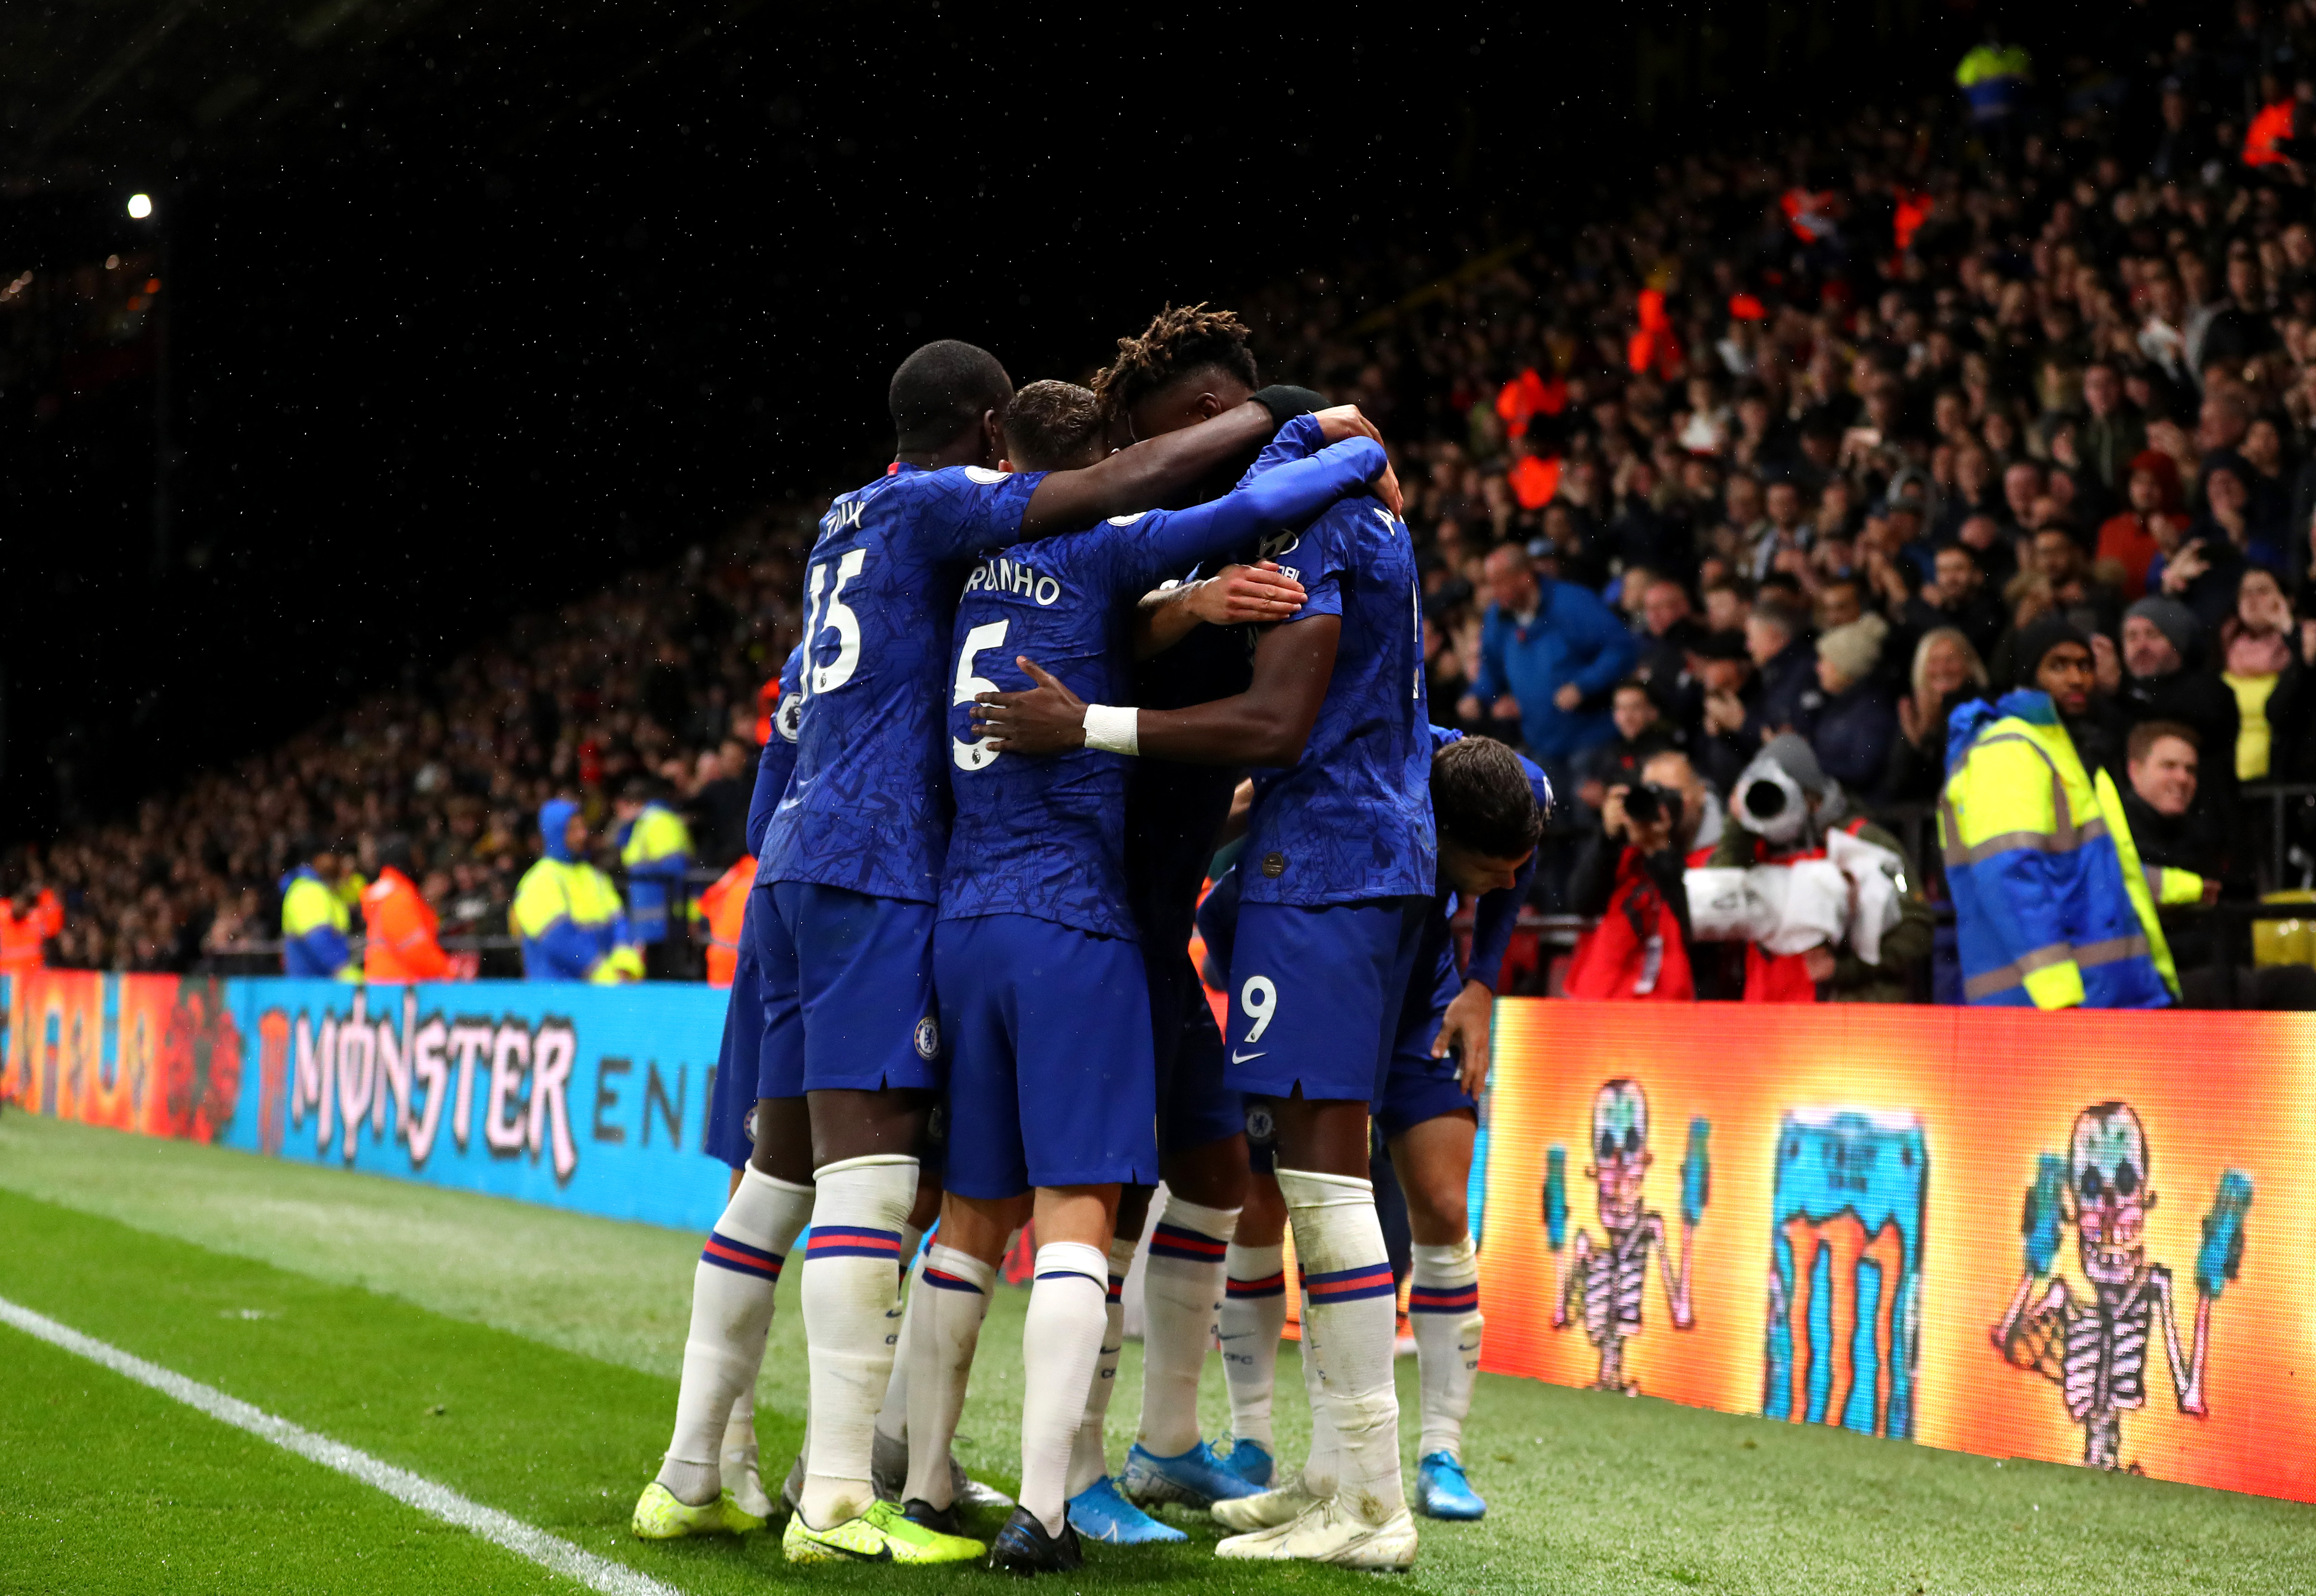
<svg viewBox="0 0 2316 1596"><path fill-rule="evenodd" d="M676 1501L711 1501L723 1485L725 1422L741 1392L755 1388L780 1262L811 1211L811 1186L778 1181L750 1165L699 1249L676 1432L658 1476Z"/></svg>

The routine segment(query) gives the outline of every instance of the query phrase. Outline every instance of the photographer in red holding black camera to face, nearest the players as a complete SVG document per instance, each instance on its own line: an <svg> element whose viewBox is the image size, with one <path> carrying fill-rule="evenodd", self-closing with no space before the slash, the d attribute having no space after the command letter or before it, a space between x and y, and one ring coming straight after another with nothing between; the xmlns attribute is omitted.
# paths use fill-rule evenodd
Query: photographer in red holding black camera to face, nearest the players
<svg viewBox="0 0 2316 1596"><path fill-rule="evenodd" d="M1600 924L1577 938L1563 991L1570 998L1693 1003L1688 894L1681 871L1721 834L1721 806L1686 753L1668 748L1600 804L1568 883L1570 908ZM1702 984L1712 987L1709 980ZM1705 996L1718 996L1705 991Z"/></svg>

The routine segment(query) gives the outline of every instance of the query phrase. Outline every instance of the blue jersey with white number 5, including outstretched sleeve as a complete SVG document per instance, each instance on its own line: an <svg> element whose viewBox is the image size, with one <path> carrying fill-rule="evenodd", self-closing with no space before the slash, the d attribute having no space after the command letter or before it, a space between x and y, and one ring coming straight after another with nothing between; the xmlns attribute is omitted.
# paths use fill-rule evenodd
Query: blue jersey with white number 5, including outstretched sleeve
<svg viewBox="0 0 2316 1596"><path fill-rule="evenodd" d="M1285 431L1320 440L1302 417ZM1028 760L973 737L973 700L1033 686L1028 656L1089 704L1133 683L1133 605L1167 572L1234 549L1262 528L1309 521L1383 470L1353 438L1193 510L1149 510L987 556L957 602L950 783L957 832L940 917L1035 915L1098 936L1135 936L1126 894L1126 764L1093 748Z"/></svg>

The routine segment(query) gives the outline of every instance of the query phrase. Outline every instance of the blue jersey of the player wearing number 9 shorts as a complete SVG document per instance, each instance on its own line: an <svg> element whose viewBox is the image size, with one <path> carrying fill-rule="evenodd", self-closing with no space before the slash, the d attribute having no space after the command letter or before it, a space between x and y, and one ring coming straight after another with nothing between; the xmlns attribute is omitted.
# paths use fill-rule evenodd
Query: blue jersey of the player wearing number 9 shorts
<svg viewBox="0 0 2316 1596"><path fill-rule="evenodd" d="M1248 475L1292 459L1281 438ZM1332 505L1262 556L1311 595L1292 621L1341 616L1334 674L1302 760L1255 771L1239 855L1248 903L1357 903L1429 896L1431 711L1424 695L1422 588L1408 528L1373 498Z"/></svg>

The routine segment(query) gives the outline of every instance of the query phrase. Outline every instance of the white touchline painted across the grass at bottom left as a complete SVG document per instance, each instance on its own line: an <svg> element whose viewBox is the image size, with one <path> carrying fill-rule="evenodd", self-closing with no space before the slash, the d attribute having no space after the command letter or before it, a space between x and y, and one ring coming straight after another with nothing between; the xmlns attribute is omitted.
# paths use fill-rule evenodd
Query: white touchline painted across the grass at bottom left
<svg viewBox="0 0 2316 1596"><path fill-rule="evenodd" d="M625 1564L614 1564L607 1557L595 1557L563 1536L549 1536L544 1529L533 1529L519 1517L510 1517L498 1508L486 1508L479 1501L461 1496L447 1485L435 1485L433 1480L410 1473L408 1469L396 1469L394 1464L380 1462L368 1452L345 1445L343 1441L331 1441L329 1436L317 1436L315 1432L301 1429L285 1418L273 1418L264 1408L252 1408L239 1397L227 1397L215 1385L188 1381L174 1369L162 1369L160 1364L146 1362L134 1353L123 1353L118 1346L107 1346L95 1337L83 1337L72 1325L58 1325L53 1318L19 1306L7 1297L0 1297L0 1320L7 1320L28 1337L39 1337L49 1346L60 1346L67 1353L100 1362L113 1374L125 1374L139 1385L151 1385L162 1397L176 1397L188 1408L199 1408L208 1418L222 1420L234 1429L245 1429L262 1441L271 1441L285 1452L296 1452L299 1457L313 1459L324 1469L336 1469L352 1480L375 1485L387 1496L410 1503L428 1517L456 1524L459 1529L472 1529L484 1540L503 1545L516 1557L528 1557L542 1568L560 1573L570 1580L579 1580L588 1589L598 1589L604 1596L679 1596L672 1584L660 1584L646 1573L637 1573Z"/></svg>

